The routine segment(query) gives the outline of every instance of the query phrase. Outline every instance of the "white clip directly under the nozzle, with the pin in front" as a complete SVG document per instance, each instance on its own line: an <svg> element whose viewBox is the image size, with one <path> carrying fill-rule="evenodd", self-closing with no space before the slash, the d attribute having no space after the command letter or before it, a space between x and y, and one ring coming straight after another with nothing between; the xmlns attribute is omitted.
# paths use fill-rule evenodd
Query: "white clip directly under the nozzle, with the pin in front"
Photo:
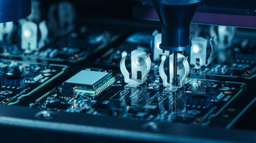
<svg viewBox="0 0 256 143"><path fill-rule="evenodd" d="M171 84L171 80L173 79L173 54L169 56L170 61L170 82L167 82L167 75L164 71L164 62L166 60L166 56L162 55L162 61L159 66L159 74L162 78L162 85L167 87L167 90L175 90L177 88L181 88L185 84L185 79L189 74L189 64L188 57L185 57L182 54L177 54L177 75L178 75L178 85L174 86Z"/></svg>

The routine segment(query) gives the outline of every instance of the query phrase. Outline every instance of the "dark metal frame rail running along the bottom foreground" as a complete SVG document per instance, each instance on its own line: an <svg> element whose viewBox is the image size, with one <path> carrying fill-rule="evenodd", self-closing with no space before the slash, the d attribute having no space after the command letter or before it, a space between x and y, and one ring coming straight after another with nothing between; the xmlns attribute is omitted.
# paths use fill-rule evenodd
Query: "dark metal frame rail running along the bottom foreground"
<svg viewBox="0 0 256 143"><path fill-rule="evenodd" d="M82 138L114 139L112 141L143 142L254 142L255 133L248 130L226 130L193 127L175 123L143 122L117 117L93 116L37 108L1 106L0 124L15 128L44 130L44 132L77 133ZM129 126L127 126L129 125ZM2 135L9 136L8 131ZM214 133L212 133L214 132ZM21 133L22 136L30 136ZM40 135L29 138L37 141ZM55 136L60 138L61 136ZM49 141L50 141L49 136ZM76 139L75 139L76 140ZM97 140L97 139L96 139Z"/></svg>

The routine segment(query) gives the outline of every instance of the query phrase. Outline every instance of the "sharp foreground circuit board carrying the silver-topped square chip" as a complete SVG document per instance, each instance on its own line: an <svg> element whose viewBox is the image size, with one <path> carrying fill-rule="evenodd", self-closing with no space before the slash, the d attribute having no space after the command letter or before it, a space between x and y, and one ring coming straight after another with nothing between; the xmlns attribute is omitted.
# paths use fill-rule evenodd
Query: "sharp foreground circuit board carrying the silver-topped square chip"
<svg viewBox="0 0 256 143"><path fill-rule="evenodd" d="M115 82L96 96L83 91L64 95L67 87L60 86L30 105L41 110L206 126L245 87L244 83L188 78L182 88L169 91L159 82L159 75L149 74L146 83L128 88L122 74L113 72L112 76Z"/></svg>

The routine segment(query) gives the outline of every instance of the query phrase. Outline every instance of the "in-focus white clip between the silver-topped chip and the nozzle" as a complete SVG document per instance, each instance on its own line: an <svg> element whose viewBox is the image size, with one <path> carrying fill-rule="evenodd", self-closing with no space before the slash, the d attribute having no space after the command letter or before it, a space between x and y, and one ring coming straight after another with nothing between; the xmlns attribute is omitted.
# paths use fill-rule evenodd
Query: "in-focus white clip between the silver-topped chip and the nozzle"
<svg viewBox="0 0 256 143"><path fill-rule="evenodd" d="M122 52L122 60L120 63L120 70L124 75L125 82L128 83L127 86L131 88L136 88L147 80L147 74L149 74L151 68L150 54L141 51L140 49L135 49L131 52L131 79L129 78L129 72L125 66L125 59L127 58L127 52ZM141 78L138 77L138 72L141 73Z"/></svg>

